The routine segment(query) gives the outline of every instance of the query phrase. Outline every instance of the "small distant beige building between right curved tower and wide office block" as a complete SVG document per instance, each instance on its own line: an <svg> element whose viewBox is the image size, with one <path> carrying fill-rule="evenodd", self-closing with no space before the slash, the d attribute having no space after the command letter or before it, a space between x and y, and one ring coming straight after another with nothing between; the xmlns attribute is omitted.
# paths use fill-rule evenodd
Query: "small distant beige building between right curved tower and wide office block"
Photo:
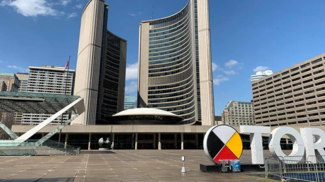
<svg viewBox="0 0 325 182"><path fill-rule="evenodd" d="M225 125L255 125L254 108L251 102L229 101L221 117Z"/></svg>

